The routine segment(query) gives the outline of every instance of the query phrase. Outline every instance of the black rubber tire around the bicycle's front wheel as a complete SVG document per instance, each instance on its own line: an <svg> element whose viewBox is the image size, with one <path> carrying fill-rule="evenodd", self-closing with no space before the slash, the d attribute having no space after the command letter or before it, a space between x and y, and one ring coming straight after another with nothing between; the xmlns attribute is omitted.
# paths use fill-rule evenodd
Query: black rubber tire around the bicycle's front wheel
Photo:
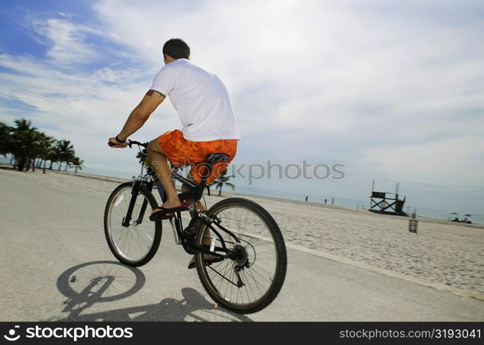
<svg viewBox="0 0 484 345"><path fill-rule="evenodd" d="M157 253L157 250L159 248L159 242L162 239L162 221L161 220L154 221L154 222L150 221L148 217L146 217L146 210L145 210L145 217L143 221L149 222L146 224L154 223L154 226L155 226L155 234L153 236L153 244L151 248L147 251L146 255L144 255L143 257L137 260L129 260L124 255L122 255L122 253L119 253L119 250L117 249L117 245L113 243L112 236L110 236L110 215L112 214L110 210L112 210L113 204L115 204L114 198L117 197L117 195L119 195L120 191L124 189L131 190L132 188L133 188L133 182L125 182L117 186L109 196L108 201L106 203L106 208L104 209L104 235L106 237L106 242L108 242L108 246L109 246L109 249L111 250L111 253L113 253L116 259L119 260L119 262L122 262L123 264L128 266L139 267L150 262L150 260L153 259L153 256ZM155 197L145 186L140 186L138 197L140 195L144 196L148 200L148 203L150 204L152 210L158 207Z"/></svg>

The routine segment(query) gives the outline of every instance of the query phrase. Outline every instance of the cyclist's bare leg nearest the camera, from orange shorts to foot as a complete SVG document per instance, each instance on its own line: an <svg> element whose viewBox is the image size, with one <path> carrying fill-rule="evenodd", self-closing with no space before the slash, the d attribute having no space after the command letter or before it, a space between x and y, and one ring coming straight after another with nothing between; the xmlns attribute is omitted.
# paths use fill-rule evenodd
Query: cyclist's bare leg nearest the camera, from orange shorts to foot
<svg viewBox="0 0 484 345"><path fill-rule="evenodd" d="M180 199L178 199L177 190L175 189L175 182L170 177L171 169L168 164L168 159L166 159L164 152L159 147L158 139L153 139L148 144L148 161L157 174L166 193L166 201L162 206L164 208L182 206Z"/></svg>

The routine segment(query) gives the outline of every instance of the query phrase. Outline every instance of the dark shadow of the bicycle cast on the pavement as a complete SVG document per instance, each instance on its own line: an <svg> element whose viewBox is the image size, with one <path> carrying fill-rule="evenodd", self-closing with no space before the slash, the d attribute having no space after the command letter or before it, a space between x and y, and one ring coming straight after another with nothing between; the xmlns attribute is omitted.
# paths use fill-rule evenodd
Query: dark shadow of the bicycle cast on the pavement
<svg viewBox="0 0 484 345"><path fill-rule="evenodd" d="M62 311L68 315L55 321L252 321L245 315L214 308L213 302L193 288L182 288L182 299L165 298L157 304L90 312L95 304L134 295L145 282L141 270L119 262L86 262L73 266L57 279L57 288L68 297Z"/></svg>

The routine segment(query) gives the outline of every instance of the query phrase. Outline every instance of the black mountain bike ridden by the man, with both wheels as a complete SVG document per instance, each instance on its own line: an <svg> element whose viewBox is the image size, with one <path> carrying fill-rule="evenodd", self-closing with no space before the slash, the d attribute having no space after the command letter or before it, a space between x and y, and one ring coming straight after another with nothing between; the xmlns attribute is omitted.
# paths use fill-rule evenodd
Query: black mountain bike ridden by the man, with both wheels
<svg viewBox="0 0 484 345"><path fill-rule="evenodd" d="M148 143L128 141L130 148L133 145L146 155ZM229 197L208 211L197 210L197 201L202 199L204 190L210 196L206 178L213 164L227 159L224 153L208 155L200 184L172 170L172 178L189 188L178 197L181 201L193 199L195 205L182 203L182 208L166 220L173 230L175 244L195 255L198 277L211 298L229 311L255 313L268 306L282 288L287 268L286 247L273 217L249 199ZM113 190L104 211L108 246L119 262L128 266L148 263L162 237L162 220L150 221L149 215L158 207L153 190L157 190L162 201L166 196L153 169L144 166L146 173L142 168L133 181ZM184 220L188 222L186 228ZM220 261L208 262L204 255Z"/></svg>

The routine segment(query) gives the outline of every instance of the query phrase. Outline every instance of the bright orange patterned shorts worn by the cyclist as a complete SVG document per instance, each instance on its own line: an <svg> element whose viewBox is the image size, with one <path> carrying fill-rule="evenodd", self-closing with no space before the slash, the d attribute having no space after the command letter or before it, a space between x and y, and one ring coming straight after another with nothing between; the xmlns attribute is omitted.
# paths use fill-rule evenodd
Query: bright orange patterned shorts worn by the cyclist
<svg viewBox="0 0 484 345"><path fill-rule="evenodd" d="M204 160L211 153L225 153L229 155L226 162L217 161L213 164L213 171L207 177L206 184L213 182L229 166L237 152L238 139L219 139L212 141L189 141L183 137L181 130L172 130L160 135L159 148L166 158L175 166L191 165L190 174L200 184L204 172Z"/></svg>

